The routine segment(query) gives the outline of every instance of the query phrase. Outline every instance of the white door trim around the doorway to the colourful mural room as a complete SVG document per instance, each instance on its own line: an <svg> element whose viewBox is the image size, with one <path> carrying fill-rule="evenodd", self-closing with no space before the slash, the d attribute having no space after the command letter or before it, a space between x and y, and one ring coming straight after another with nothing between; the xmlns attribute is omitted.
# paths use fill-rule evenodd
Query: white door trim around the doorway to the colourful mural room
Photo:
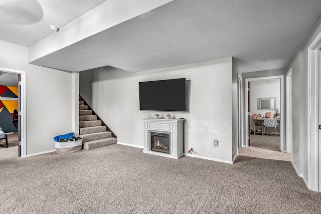
<svg viewBox="0 0 321 214"><path fill-rule="evenodd" d="M21 93L20 93L20 114L21 114L21 124L20 124L20 131L21 131L21 157L27 156L27 137L26 137L26 72L8 68L0 68L0 71L7 72L7 73L14 73L20 74L21 76Z"/></svg>

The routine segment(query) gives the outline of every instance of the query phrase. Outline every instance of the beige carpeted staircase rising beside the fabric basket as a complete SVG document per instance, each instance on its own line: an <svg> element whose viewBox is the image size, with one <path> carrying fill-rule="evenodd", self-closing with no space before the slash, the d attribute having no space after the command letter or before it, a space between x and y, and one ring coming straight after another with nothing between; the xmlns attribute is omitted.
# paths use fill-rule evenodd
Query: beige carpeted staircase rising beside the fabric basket
<svg viewBox="0 0 321 214"><path fill-rule="evenodd" d="M117 143L117 138L112 137L112 132L102 125L102 121L93 115L84 101L79 103L79 135L83 138L84 149L95 149Z"/></svg>

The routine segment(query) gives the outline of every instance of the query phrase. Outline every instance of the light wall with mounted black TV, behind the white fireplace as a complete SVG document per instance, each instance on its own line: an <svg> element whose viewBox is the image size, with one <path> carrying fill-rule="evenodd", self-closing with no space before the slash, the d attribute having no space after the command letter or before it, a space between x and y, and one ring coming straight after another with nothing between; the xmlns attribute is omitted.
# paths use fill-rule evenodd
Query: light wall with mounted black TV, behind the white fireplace
<svg viewBox="0 0 321 214"><path fill-rule="evenodd" d="M138 82L186 78L189 111L171 113L185 118L184 152L232 163L232 58L130 73L106 67L80 72L80 94L117 135L118 142L143 147ZM89 93L91 91L91 94ZM127 113L125 113L125 110ZM151 112L151 116L167 112ZM214 140L219 146L214 147Z"/></svg>

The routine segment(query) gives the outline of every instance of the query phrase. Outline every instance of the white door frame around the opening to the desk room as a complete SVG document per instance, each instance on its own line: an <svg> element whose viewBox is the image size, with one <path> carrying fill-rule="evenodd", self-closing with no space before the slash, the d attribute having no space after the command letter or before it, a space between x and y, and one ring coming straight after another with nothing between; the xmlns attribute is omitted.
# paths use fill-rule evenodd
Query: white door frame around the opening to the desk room
<svg viewBox="0 0 321 214"><path fill-rule="evenodd" d="M278 76L269 76L269 77L253 77L253 78L246 78L245 79L245 85L247 86L249 82L251 81L260 81L260 80L272 80L272 79L280 79L280 104L281 104L281 113L285 112L284 110L284 76L283 75L278 75ZM248 103L248 95L246 93L245 96L245 103ZM249 112L248 109L248 105L245 105L245 111L244 111L244 115L247 115ZM285 114L284 116L282 116L282 119L280 120L280 150L281 152L286 152L286 150L284 149L284 142L283 142L283 138L284 138L284 130L283 130L283 123L284 123L284 119L285 119ZM245 120L245 133L249 132L249 122L248 120ZM249 139L248 137L245 137L245 146L248 147L249 146Z"/></svg>

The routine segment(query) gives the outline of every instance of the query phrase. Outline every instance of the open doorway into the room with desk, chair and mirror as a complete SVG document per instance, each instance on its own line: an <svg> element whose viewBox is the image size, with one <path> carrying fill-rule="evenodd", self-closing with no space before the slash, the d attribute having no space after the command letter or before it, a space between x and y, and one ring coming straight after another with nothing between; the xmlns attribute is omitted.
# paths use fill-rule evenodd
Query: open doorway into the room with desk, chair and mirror
<svg viewBox="0 0 321 214"><path fill-rule="evenodd" d="M283 139L283 124L285 122L285 111L284 111L284 76L272 76L272 77L259 77L259 78L246 78L245 83L247 86L246 93L246 115L248 116L245 121L246 133L248 137L246 139L246 147L252 146L254 137L264 138L263 136L277 136L272 139L274 141L273 150L281 152L286 151ZM251 85L251 87L249 87ZM271 85L272 87L268 87ZM259 105L261 98L267 101L271 106L262 107ZM269 98L269 99L267 99ZM272 99L273 98L273 99ZM274 102L273 105L271 102ZM263 103L264 104L264 103ZM281 113L283 113L282 116ZM254 117L253 117L254 115ZM278 125L276 128L270 128L268 125L264 125L265 118L275 119ZM283 120L282 120L283 119ZM274 121L275 122L275 121ZM259 135L259 136L258 136ZM253 138L253 139L251 139ZM255 139L256 139L255 138ZM251 144L250 144L251 143ZM256 145L256 144L255 144ZM278 148L276 148L278 147Z"/></svg>

